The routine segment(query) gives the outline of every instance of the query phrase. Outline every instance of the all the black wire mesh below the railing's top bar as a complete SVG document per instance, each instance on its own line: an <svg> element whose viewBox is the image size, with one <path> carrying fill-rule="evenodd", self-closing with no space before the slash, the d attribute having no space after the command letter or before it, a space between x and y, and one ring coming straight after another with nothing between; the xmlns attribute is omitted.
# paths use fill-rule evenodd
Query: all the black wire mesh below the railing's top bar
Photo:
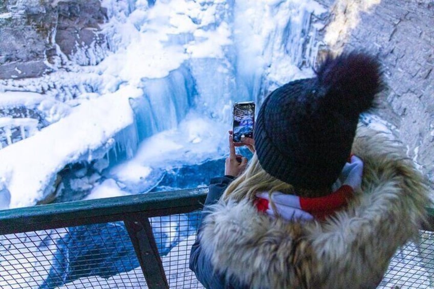
<svg viewBox="0 0 434 289"><path fill-rule="evenodd" d="M202 288L189 268L201 212L150 219L170 288ZM375 254L375 253L373 253ZM398 250L378 288L430 288L434 234ZM147 288L123 222L0 235L1 288Z"/></svg>

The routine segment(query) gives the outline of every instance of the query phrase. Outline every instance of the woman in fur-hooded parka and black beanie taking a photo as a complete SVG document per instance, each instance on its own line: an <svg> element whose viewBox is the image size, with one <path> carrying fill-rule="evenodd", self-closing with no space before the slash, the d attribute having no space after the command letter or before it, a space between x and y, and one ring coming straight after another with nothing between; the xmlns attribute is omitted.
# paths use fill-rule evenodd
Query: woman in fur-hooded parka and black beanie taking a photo
<svg viewBox="0 0 434 289"><path fill-rule="evenodd" d="M190 252L206 288L377 287L430 203L405 147L358 121L382 87L376 58L328 56L264 100L249 163L229 135Z"/></svg>

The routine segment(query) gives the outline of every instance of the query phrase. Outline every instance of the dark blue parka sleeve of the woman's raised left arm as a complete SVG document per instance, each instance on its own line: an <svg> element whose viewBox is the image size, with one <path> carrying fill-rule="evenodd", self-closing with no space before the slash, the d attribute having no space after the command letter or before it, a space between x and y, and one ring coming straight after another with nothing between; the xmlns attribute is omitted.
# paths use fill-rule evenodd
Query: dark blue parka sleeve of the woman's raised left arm
<svg viewBox="0 0 434 289"><path fill-rule="evenodd" d="M215 204L219 201L223 192L234 178L231 176L215 177L211 179L208 195L206 197L205 206ZM202 220L206 213L202 213ZM196 274L196 278L204 285L205 288L227 288L225 285L225 277L214 272L211 260L206 256L201 247L199 232L202 224L199 226L198 237L194 242L190 251L190 270Z"/></svg>

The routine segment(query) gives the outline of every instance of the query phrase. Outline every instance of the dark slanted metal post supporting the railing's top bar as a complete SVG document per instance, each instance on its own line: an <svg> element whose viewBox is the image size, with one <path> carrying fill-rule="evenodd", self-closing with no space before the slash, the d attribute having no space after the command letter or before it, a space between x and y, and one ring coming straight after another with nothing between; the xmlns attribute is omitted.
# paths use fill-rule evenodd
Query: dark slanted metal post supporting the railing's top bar
<svg viewBox="0 0 434 289"><path fill-rule="evenodd" d="M149 219L139 214L128 214L124 224L148 287L169 288Z"/></svg>

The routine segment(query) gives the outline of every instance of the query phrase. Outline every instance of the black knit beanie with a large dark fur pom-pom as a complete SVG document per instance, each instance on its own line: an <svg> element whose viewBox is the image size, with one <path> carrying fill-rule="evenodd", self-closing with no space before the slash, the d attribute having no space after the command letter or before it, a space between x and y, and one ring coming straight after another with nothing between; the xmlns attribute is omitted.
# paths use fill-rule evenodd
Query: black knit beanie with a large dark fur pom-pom
<svg viewBox="0 0 434 289"><path fill-rule="evenodd" d="M328 56L316 77L273 91L254 130L264 170L298 188L331 187L350 157L359 114L381 89L380 75L374 57L353 52Z"/></svg>

